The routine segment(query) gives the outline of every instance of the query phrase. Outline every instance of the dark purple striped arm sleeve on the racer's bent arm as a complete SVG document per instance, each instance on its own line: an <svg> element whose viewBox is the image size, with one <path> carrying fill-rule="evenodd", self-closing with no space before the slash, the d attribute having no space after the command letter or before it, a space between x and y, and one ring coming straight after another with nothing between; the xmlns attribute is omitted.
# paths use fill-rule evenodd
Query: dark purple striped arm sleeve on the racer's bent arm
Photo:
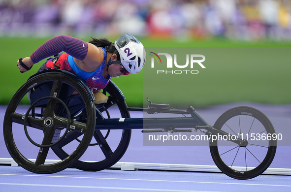
<svg viewBox="0 0 291 192"><path fill-rule="evenodd" d="M83 60L88 52L88 44L74 37L60 35L56 36L44 44L42 44L38 49L36 49L32 55L31 59L34 64L39 61L59 54L65 51L67 54L73 56L78 60Z"/></svg>

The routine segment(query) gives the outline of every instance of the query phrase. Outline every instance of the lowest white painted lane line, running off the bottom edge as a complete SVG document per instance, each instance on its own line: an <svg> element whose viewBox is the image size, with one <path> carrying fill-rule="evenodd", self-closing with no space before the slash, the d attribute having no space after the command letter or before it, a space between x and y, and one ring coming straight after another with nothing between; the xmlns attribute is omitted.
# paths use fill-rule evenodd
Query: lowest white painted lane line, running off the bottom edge
<svg viewBox="0 0 291 192"><path fill-rule="evenodd" d="M217 191L192 191L192 190L170 190L170 189L148 189L148 188L122 188L122 187L97 187L97 186L72 186L72 185L42 185L42 184L20 184L0 183L0 185L32 186L32 187L59 187L59 188L86 188L86 189L107 189L107 190L131 190L150 192L217 192Z"/></svg>

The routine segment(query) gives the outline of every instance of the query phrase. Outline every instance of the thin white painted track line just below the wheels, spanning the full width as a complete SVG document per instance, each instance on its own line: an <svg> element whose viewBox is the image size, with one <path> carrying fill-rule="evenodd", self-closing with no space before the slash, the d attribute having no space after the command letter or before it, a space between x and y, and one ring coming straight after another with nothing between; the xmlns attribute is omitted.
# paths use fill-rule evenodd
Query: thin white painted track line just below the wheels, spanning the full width
<svg viewBox="0 0 291 192"><path fill-rule="evenodd" d="M274 185L274 184L253 184L253 183L226 183L226 182L206 182L206 181L176 181L176 180L155 180L155 179L124 179L124 178L101 178L101 177L75 177L75 176L55 176L55 175L22 175L22 174L2 174L9 176L26 176L26 177L56 177L56 178L75 178L75 179L107 179L107 180L125 180L125 181L158 181L158 182L176 182L176 183L205 183L205 184L224 184L224 185L250 185L250 186L274 186L274 187L291 187L291 185Z"/></svg>

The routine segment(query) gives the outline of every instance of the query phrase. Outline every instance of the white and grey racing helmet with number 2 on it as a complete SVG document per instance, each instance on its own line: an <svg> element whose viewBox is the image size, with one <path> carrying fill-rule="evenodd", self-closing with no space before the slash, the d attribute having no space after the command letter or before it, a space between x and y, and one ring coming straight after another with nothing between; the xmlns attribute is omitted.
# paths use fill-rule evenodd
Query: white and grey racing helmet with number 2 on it
<svg viewBox="0 0 291 192"><path fill-rule="evenodd" d="M120 55L121 64L129 73L136 74L142 69L146 60L145 48L133 35L121 35L114 46Z"/></svg>

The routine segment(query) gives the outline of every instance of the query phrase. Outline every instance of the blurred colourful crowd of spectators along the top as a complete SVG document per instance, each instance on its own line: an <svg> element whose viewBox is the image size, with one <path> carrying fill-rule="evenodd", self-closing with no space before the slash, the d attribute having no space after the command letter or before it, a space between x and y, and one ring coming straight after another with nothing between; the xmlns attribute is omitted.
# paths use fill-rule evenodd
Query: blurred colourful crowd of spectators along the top
<svg viewBox="0 0 291 192"><path fill-rule="evenodd" d="M291 40L290 10L290 0L0 0L0 36Z"/></svg>

